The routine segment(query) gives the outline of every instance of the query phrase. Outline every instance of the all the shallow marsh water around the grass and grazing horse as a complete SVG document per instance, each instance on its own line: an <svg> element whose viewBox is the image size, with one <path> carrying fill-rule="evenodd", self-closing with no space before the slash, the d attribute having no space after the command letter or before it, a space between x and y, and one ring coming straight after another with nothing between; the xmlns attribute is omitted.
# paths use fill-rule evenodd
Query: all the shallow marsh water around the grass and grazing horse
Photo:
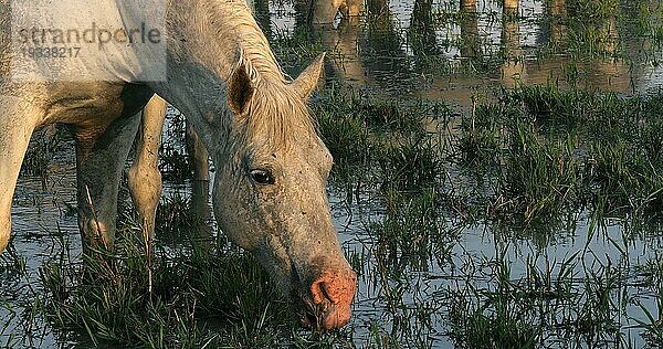
<svg viewBox="0 0 663 349"><path fill-rule="evenodd" d="M660 2L613 1L609 13L601 6L610 1L589 1L594 8L566 2L527 0L505 11L502 1L490 0L369 0L362 15L337 18L329 28L305 25L301 6L287 0L254 6L276 56L293 76L313 55L303 52L327 51L325 89L403 105L443 103L454 110L451 119L442 129L435 123L427 127L452 137L454 125L471 115L476 101L490 102L502 88L660 93ZM591 11L601 12L600 19ZM586 17L591 28L573 27L571 15ZM178 139L170 141L171 152L183 150ZM66 330L53 328L36 310L44 295L40 267L57 251L74 260L81 253L72 142L65 138L45 148L56 150L32 160L48 176L23 171L14 194L13 240L0 260L0 346L87 347L84 335L63 335ZM467 180L453 171L450 178ZM167 180L164 195L186 195L188 183ZM347 187L333 177L329 192L344 251L359 274L348 335L356 347L467 348L473 334L464 331L478 325L463 324L488 308L523 313L502 314L494 322L484 318L487 327L507 327L514 318L525 328L543 324L533 347L642 348L655 346L652 337L661 336L655 326L663 316L663 288L655 277L663 263L661 224L634 222L629 214L597 219L581 208L547 224L509 226L444 209L433 223L421 225L425 232L394 243L407 246L383 254L390 242L376 232L385 231L393 214L389 198L376 195L375 188L348 194ZM420 226L409 220L403 214L392 221L397 231ZM499 310L498 305L506 306Z"/></svg>

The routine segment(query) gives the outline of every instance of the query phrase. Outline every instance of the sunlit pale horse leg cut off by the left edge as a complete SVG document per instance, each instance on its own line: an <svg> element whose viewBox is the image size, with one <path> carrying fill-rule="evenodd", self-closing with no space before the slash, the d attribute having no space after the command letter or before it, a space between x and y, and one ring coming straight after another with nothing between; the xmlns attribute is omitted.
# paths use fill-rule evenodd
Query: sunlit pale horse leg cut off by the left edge
<svg viewBox="0 0 663 349"><path fill-rule="evenodd" d="M21 171L21 163L34 130L31 110L11 97L0 98L0 253L11 234L11 202Z"/></svg>

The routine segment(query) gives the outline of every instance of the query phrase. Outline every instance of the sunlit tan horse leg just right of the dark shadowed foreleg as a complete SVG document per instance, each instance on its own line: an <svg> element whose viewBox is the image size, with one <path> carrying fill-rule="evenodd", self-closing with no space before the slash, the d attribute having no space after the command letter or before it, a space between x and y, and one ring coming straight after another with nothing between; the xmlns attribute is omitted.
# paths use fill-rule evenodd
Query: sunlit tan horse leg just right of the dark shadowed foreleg
<svg viewBox="0 0 663 349"><path fill-rule="evenodd" d="M161 197L161 172L159 172L159 141L167 104L154 96L143 109L143 123L136 137L136 159L129 169L129 191L143 223L143 235L155 239L155 220Z"/></svg>

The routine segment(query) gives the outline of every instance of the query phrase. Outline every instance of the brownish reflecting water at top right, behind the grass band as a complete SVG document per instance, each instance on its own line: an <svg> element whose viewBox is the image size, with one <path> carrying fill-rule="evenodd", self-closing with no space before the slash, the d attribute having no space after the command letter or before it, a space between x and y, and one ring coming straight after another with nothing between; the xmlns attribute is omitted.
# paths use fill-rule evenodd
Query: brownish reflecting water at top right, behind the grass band
<svg viewBox="0 0 663 349"><path fill-rule="evenodd" d="M309 15L301 14L309 9L298 3L296 17ZM506 0L502 6L478 0L368 0L365 15L341 17L336 25L309 30L333 53L333 81L382 96L470 106L473 95L518 83L633 94L660 86L652 77L663 74L655 64L662 52L651 38L620 33L638 32L635 21L617 18L640 15L631 13L639 3L617 3L585 20L571 15L586 9L565 0ZM287 17L272 20L281 32L295 31Z"/></svg>

